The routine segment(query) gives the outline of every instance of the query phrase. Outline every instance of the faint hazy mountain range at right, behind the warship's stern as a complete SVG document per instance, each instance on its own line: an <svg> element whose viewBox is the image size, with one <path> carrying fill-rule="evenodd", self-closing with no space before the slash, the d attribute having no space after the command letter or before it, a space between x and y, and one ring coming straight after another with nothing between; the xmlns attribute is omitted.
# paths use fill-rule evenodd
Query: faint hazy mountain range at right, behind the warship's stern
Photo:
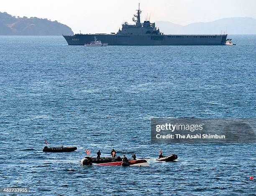
<svg viewBox="0 0 256 196"><path fill-rule="evenodd" d="M223 18L207 23L191 23L189 25L177 25L175 23L158 21L156 26L164 34L220 34L220 31L228 31L228 34L256 34L256 20L249 17Z"/></svg>

